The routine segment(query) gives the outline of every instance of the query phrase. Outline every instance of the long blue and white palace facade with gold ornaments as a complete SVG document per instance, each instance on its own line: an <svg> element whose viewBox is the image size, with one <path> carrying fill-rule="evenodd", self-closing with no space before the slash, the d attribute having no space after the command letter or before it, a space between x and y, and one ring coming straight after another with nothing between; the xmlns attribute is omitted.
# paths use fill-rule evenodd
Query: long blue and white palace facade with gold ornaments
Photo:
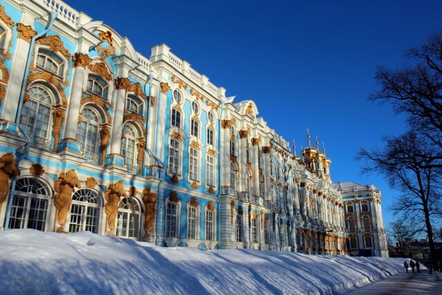
<svg viewBox="0 0 442 295"><path fill-rule="evenodd" d="M377 189L332 184L317 141L296 155L164 44L144 57L62 1L0 0L0 68L2 230L387 256Z"/></svg>

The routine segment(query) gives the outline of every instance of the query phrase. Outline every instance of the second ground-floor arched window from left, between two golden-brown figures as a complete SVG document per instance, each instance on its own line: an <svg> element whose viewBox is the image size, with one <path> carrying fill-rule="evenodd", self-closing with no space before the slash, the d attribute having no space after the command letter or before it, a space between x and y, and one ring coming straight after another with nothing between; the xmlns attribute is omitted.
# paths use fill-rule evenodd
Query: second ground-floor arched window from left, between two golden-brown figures
<svg viewBox="0 0 442 295"><path fill-rule="evenodd" d="M98 234L99 208L101 201L91 189L79 189L72 196L69 232L91 231Z"/></svg>

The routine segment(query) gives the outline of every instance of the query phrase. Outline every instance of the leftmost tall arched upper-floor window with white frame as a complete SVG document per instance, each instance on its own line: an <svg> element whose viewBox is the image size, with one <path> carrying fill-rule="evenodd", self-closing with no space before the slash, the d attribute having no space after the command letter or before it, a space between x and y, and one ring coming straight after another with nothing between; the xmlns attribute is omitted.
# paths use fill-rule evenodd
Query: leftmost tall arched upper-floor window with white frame
<svg viewBox="0 0 442 295"><path fill-rule="evenodd" d="M52 96L47 88L35 85L28 89L29 100L23 105L21 124L32 137L32 146L50 149L50 108Z"/></svg>

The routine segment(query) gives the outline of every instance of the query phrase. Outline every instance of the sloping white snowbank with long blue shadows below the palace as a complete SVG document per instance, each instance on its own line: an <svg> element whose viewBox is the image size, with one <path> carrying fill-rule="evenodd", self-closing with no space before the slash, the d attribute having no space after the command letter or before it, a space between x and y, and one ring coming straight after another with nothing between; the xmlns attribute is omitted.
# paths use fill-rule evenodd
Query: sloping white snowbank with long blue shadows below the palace
<svg viewBox="0 0 442 295"><path fill-rule="evenodd" d="M90 232L0 233L1 294L338 294L402 259L164 248Z"/></svg>

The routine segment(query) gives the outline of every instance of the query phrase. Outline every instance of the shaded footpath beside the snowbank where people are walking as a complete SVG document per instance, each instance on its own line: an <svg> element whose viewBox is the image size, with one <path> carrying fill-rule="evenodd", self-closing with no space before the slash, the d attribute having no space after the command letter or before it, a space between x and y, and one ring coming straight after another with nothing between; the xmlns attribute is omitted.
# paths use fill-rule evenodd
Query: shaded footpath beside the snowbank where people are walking
<svg viewBox="0 0 442 295"><path fill-rule="evenodd" d="M407 295L407 294L442 294L442 280L435 280L434 276L428 274L427 269L423 269L420 274L407 273L390 276L376 283L369 284L365 287L354 289L346 295Z"/></svg>

